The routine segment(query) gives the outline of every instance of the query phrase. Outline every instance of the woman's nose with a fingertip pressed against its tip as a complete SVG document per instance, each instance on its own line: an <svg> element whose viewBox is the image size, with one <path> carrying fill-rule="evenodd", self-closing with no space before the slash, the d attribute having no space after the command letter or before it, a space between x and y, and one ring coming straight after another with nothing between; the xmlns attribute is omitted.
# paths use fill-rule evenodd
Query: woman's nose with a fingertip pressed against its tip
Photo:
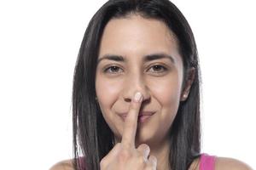
<svg viewBox="0 0 256 170"><path fill-rule="evenodd" d="M134 94L140 92L143 94L143 101L150 99L150 93L147 82L140 74L133 74L127 77L123 88L123 99L125 102L131 102Z"/></svg>

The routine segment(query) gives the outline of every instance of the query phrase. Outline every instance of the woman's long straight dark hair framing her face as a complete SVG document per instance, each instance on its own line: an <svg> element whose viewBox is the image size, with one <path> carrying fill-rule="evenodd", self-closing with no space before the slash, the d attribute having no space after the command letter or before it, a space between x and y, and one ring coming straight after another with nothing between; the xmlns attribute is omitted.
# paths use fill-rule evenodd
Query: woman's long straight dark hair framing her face
<svg viewBox="0 0 256 170"><path fill-rule="evenodd" d="M195 68L195 80L189 97L180 102L170 130L170 166L176 170L188 169L201 152L201 71L195 38L189 23L168 0L109 0L90 20L73 75L73 166L75 169L83 169L82 164L86 161L86 169L100 169L102 157L113 148L113 132L96 102L96 60L102 32L108 21L128 17L129 14L162 20L175 34L179 53L183 58L183 82L189 78L189 69ZM82 156L84 160L79 159Z"/></svg>

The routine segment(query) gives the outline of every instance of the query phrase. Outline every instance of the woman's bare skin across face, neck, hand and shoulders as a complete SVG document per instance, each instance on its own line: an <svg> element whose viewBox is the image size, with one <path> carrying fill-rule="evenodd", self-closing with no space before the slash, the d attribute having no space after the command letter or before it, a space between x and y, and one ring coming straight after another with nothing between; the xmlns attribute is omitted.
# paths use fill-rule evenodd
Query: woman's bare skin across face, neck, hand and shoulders
<svg viewBox="0 0 256 170"><path fill-rule="evenodd" d="M191 70L191 77L182 89L183 60L177 49L175 36L160 20L131 15L108 22L102 35L99 59L115 54L123 56L125 61L102 59L97 65L97 100L116 140L113 150L101 161L102 170L127 166L170 169L166 160L170 147L167 133L179 103L187 98L194 80ZM145 55L155 53L169 54L174 62L171 59L143 60ZM153 65L162 65L166 70ZM143 94L141 102L134 101L136 92ZM147 122L137 122L140 111L154 111L154 115ZM128 113L125 120L119 116L124 112ZM198 162L198 159L193 161L189 170L199 169ZM58 169L73 169L71 161L61 161L51 168ZM241 161L218 157L216 169L251 168Z"/></svg>

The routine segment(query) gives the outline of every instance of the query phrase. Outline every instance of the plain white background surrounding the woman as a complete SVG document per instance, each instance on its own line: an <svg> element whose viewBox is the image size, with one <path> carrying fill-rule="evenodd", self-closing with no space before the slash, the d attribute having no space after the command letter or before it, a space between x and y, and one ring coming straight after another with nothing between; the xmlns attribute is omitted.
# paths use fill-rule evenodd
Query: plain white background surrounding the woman
<svg viewBox="0 0 256 170"><path fill-rule="evenodd" d="M49 169L72 153L73 69L86 26L106 1L0 1L0 168ZM256 167L252 1L173 1L197 42L202 152Z"/></svg>

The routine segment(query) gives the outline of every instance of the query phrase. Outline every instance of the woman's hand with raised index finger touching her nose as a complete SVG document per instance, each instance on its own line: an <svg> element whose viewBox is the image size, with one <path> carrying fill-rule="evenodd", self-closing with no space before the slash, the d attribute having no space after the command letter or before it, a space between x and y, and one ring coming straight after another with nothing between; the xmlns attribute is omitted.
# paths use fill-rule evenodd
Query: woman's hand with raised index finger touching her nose
<svg viewBox="0 0 256 170"><path fill-rule="evenodd" d="M141 99L139 99L141 96ZM101 170L156 170L155 156L149 156L150 148L147 144L135 147L137 132L137 118L143 96L140 93L132 99L129 112L125 117L125 127L121 143L115 144L107 156L102 158Z"/></svg>

